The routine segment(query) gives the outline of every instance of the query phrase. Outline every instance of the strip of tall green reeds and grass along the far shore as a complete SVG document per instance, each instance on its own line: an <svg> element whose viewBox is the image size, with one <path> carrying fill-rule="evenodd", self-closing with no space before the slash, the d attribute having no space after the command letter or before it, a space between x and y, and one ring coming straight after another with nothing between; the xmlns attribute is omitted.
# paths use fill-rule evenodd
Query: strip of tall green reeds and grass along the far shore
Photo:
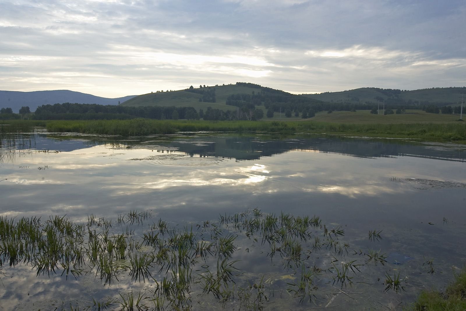
<svg viewBox="0 0 466 311"><path fill-rule="evenodd" d="M8 121L1 131L46 126L50 132L80 132L102 135L173 134L186 131L266 132L278 134L326 133L370 137L415 138L430 141L466 143L465 122L444 123L334 123L315 121L202 121L202 120L84 120L84 121Z"/></svg>

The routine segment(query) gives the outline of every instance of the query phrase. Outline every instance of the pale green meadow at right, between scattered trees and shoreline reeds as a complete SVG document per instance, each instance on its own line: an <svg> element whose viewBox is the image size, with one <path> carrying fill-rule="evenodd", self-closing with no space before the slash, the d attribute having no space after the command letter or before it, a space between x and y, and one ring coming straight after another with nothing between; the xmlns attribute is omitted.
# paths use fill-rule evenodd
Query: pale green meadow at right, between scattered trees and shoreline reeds
<svg viewBox="0 0 466 311"><path fill-rule="evenodd" d="M407 110L407 114L380 115L369 110L334 111L331 114L320 112L308 119L316 122L355 123L355 124L408 124L408 123L458 123L458 115L430 114L422 110Z"/></svg>

